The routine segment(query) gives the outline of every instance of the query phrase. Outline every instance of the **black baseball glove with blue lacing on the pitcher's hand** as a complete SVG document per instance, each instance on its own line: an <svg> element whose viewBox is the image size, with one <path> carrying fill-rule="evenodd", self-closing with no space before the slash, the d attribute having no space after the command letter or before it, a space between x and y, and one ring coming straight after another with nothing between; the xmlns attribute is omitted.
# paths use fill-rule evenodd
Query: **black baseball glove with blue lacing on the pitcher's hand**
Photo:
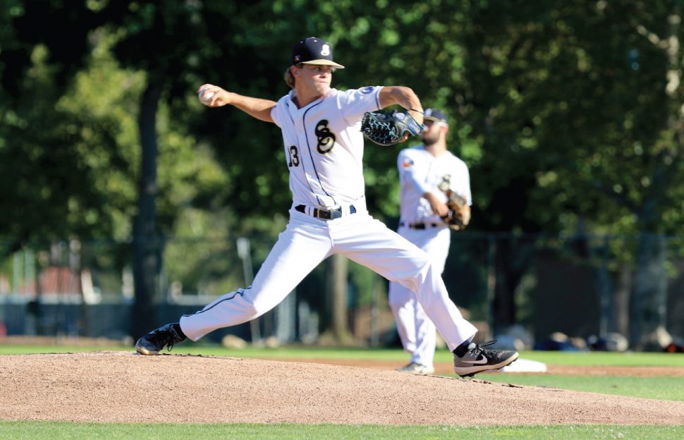
<svg viewBox="0 0 684 440"><path fill-rule="evenodd" d="M371 113L367 111L361 120L361 132L367 140L378 145L394 145L404 138L405 133L419 135L425 126L419 124L408 113Z"/></svg>

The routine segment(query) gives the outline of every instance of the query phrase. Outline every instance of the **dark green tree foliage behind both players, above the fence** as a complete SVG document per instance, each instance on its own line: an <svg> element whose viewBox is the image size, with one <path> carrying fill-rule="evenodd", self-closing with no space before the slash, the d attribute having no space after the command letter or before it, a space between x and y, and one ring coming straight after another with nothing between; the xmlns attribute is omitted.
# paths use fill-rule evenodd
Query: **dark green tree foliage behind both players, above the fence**
<svg viewBox="0 0 684 440"><path fill-rule="evenodd" d="M195 90L278 99L291 44L310 35L346 66L334 87L408 85L451 117L472 230L683 232L676 0L3 6L0 235L17 242L130 238L151 204L148 236L276 233L291 202L279 130L206 109ZM366 149L368 204L386 219L398 213L397 153ZM146 189L154 202L137 201ZM508 276L512 295L520 274Z"/></svg>

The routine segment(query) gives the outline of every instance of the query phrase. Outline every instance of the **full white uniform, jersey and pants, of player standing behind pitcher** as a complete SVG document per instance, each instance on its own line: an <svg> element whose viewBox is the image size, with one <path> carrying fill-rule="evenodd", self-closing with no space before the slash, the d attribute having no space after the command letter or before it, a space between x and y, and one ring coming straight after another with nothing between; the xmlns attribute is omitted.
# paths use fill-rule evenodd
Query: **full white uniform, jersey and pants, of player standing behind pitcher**
<svg viewBox="0 0 684 440"><path fill-rule="evenodd" d="M401 216L398 233L427 252L434 271L441 274L451 242L451 230L425 197L433 193L446 203L444 186L463 197L468 204L470 175L464 161L444 152L434 157L423 145L401 150L397 157L401 183ZM440 188L440 186L442 188ZM415 293L400 283L389 285L389 306L396 320L401 344L411 354L411 361L434 367L435 328Z"/></svg>

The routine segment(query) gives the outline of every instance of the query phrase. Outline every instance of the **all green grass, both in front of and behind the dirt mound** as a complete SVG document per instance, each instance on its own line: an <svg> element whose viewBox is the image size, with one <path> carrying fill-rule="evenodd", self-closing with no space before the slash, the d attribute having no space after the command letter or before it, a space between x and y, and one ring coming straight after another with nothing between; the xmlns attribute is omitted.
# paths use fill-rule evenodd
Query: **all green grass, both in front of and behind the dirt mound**
<svg viewBox="0 0 684 440"><path fill-rule="evenodd" d="M132 350L130 347L0 346L0 355ZM245 348L178 346L175 353L262 359L405 360L401 350L339 348ZM437 362L450 353L440 350ZM523 352L521 358L553 365L683 367L684 355L665 353ZM480 374L478 379L527 386L592 391L661 400L684 401L682 377L563 376L555 374ZM0 421L0 439L667 439L684 438L684 425L549 425L549 426L374 426L334 424L98 424Z"/></svg>

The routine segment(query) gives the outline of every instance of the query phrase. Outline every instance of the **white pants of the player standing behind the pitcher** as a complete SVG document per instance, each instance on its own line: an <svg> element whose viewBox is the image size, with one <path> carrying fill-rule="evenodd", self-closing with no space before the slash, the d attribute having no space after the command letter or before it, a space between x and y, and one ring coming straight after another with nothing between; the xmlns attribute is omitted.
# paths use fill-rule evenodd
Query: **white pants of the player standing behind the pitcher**
<svg viewBox="0 0 684 440"><path fill-rule="evenodd" d="M410 229L402 226L397 232L427 252L434 271L438 274L444 272L451 241L449 228ZM389 307L394 314L401 345L411 353L410 362L433 367L435 327L415 293L400 283L389 283Z"/></svg>

